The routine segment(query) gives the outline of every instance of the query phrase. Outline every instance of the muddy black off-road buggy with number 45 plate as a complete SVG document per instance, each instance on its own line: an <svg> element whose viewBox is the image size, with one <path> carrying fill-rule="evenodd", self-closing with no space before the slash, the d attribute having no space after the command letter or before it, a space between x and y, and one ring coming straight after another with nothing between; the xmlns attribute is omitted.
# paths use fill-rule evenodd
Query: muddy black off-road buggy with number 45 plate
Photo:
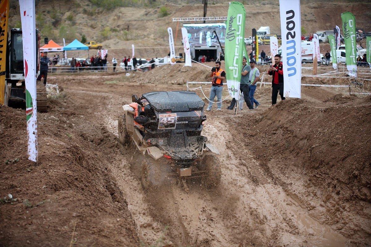
<svg viewBox="0 0 371 247"><path fill-rule="evenodd" d="M204 101L194 92L151 92L132 96L118 118L122 144L134 141L145 156L141 181L145 189L160 186L173 178L199 178L207 187L220 181L219 151L201 136Z"/></svg>

